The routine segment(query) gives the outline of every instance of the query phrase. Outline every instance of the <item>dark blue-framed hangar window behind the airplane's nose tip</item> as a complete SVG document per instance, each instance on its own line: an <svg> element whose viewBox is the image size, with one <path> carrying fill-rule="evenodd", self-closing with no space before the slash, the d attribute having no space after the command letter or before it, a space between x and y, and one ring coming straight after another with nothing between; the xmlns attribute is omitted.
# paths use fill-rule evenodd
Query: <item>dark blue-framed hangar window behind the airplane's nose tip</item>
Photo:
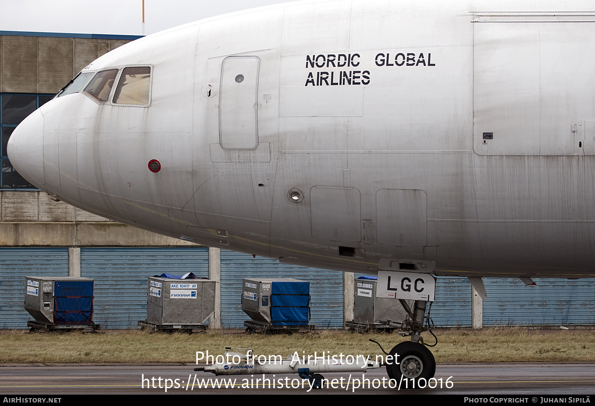
<svg viewBox="0 0 595 406"><path fill-rule="evenodd" d="M7 144L12 131L29 114L49 102L54 95L27 95L24 93L0 93L0 189L37 189L26 181L10 164Z"/></svg>

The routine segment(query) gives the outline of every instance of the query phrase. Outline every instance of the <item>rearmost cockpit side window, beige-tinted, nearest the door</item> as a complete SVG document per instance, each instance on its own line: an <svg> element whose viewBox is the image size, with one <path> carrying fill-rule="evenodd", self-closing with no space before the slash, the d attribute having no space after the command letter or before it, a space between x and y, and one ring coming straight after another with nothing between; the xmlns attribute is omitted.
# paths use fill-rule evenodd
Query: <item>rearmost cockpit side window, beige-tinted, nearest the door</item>
<svg viewBox="0 0 595 406"><path fill-rule="evenodd" d="M115 104L149 105L151 100L151 67L124 68L115 89Z"/></svg>

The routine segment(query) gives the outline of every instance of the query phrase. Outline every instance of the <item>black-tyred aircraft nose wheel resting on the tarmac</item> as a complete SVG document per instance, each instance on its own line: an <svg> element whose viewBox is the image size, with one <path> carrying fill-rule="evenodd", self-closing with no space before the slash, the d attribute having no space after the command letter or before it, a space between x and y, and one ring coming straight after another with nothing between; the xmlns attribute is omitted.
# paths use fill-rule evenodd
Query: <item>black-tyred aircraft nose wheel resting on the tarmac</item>
<svg viewBox="0 0 595 406"><path fill-rule="evenodd" d="M401 376L405 379L424 378L428 380L436 373L434 355L423 344L411 341L401 342L395 345L389 354L393 355L393 361L394 356L399 355L396 359L399 364L393 362L386 366L389 378L395 379L397 382L400 382Z"/></svg>

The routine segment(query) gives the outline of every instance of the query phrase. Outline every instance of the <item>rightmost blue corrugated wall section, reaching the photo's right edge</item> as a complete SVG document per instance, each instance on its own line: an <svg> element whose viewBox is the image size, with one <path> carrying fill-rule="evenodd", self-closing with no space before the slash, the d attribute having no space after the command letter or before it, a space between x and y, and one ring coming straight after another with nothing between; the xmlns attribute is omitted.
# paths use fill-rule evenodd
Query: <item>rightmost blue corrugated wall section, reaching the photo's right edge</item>
<svg viewBox="0 0 595 406"><path fill-rule="evenodd" d="M484 326L595 323L595 279L534 279L534 287L516 278L483 281Z"/></svg>

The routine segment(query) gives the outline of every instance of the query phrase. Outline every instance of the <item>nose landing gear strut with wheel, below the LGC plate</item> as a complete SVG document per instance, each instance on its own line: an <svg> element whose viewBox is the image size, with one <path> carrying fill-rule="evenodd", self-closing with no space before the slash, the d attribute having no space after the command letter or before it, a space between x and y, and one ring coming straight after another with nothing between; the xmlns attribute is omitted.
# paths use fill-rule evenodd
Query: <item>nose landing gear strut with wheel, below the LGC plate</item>
<svg viewBox="0 0 595 406"><path fill-rule="evenodd" d="M413 310L405 300L400 299L400 302L408 316L400 323L399 333L403 336L411 335L411 341L397 344L390 350L389 355L393 355L393 362L387 363L386 372L390 379L396 379L397 382L400 382L402 377L403 379L430 379L436 373L436 360L421 337L421 333L429 330L431 325L429 309L428 316L425 317L427 301L416 300ZM393 323L390 320L386 323L399 327L399 323Z"/></svg>

